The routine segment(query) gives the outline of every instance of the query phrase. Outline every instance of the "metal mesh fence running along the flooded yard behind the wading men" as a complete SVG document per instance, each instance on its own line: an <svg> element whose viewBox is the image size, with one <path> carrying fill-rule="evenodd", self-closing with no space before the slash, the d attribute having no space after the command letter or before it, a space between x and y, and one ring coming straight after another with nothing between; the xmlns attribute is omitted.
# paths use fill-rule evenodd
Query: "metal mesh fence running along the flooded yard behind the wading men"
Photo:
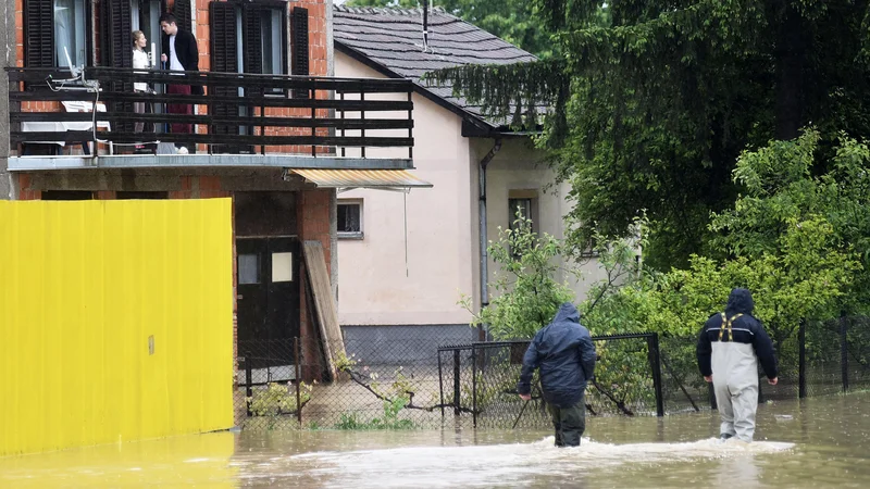
<svg viewBox="0 0 870 489"><path fill-rule="evenodd" d="M237 424L246 429L549 426L537 379L532 401L515 391L529 341L456 344L456 339L346 337L340 347L347 353L335 359L335 374L319 340L239 343ZM696 337L593 339L598 364L586 391L591 416L714 409L710 386L698 373ZM780 341L778 354L780 383L761 381L759 402L867 388L870 319L807 322Z"/></svg>

